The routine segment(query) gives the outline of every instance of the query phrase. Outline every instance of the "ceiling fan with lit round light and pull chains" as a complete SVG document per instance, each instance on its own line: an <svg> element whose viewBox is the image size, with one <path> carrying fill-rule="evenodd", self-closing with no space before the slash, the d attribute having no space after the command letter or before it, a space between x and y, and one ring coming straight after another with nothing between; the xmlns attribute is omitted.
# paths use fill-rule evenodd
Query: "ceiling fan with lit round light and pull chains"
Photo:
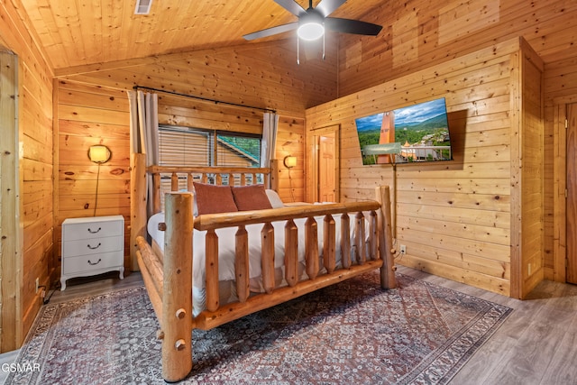
<svg viewBox="0 0 577 385"><path fill-rule="evenodd" d="M313 0L308 0L308 8L305 9L295 0L274 0L275 3L282 6L289 13L298 17L298 22L277 25L276 27L267 28L257 32L248 33L243 36L246 40L261 39L282 32L297 30L298 40L314 41L321 36L325 36L325 28L329 31L354 33L359 35L376 36L382 27L373 23L361 22L359 20L341 19L338 17L329 17L330 14L346 0L321 0L313 8ZM325 43L323 42L323 51ZM323 53L323 59L325 53Z"/></svg>

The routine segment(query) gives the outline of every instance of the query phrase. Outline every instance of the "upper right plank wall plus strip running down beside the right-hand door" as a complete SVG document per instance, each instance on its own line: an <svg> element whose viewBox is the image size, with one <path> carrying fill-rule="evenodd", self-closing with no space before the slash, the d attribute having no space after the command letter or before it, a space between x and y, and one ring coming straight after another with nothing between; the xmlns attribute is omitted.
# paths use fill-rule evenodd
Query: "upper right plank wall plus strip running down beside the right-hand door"
<svg viewBox="0 0 577 385"><path fill-rule="evenodd" d="M545 63L545 277L565 280L564 110L577 100L577 2L392 0L371 10L377 38L343 35L339 96L524 37Z"/></svg>

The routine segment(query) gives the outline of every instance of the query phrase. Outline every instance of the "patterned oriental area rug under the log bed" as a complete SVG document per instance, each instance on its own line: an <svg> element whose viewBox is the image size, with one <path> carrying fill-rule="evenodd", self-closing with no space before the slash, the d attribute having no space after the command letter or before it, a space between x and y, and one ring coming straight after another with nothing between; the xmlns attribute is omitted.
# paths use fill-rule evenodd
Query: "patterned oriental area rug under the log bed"
<svg viewBox="0 0 577 385"><path fill-rule="evenodd" d="M368 273L210 331L193 332L181 383L443 384L511 309L398 274ZM145 289L45 305L6 384L161 384Z"/></svg>

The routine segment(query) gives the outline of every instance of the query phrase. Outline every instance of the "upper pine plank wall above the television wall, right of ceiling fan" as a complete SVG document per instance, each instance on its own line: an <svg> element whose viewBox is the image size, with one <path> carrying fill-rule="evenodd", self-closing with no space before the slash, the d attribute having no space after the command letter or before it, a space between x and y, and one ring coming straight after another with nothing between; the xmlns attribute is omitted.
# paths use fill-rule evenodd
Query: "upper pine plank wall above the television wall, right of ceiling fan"
<svg viewBox="0 0 577 385"><path fill-rule="evenodd" d="M574 58L576 12L564 0L391 0L367 14L383 25L377 38L342 35L339 96L517 36L545 63Z"/></svg>

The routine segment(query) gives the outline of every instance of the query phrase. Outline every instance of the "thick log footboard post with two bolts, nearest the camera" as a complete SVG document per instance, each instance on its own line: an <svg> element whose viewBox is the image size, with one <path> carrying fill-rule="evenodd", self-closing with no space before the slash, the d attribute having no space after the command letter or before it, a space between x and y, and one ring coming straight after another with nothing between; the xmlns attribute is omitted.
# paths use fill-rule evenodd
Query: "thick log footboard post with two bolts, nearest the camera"
<svg viewBox="0 0 577 385"><path fill-rule="evenodd" d="M165 196L164 288L162 293L162 377L183 380L192 370L191 193Z"/></svg>

